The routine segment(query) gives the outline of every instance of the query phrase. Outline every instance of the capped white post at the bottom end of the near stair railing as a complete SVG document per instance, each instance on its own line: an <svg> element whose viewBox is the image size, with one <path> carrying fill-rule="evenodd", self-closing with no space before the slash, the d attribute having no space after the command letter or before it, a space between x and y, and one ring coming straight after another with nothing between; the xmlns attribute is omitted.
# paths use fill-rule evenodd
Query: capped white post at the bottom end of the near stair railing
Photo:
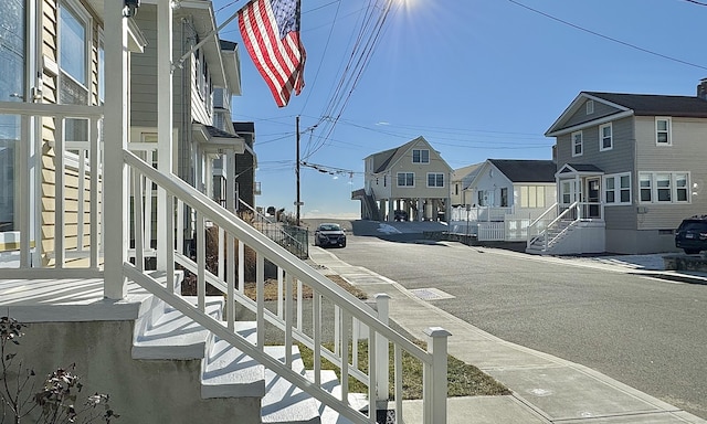
<svg viewBox="0 0 707 424"><path fill-rule="evenodd" d="M446 356L447 337L451 332L442 327L430 327L428 335L428 353L432 356L432 365L424 377L424 422L446 423Z"/></svg>

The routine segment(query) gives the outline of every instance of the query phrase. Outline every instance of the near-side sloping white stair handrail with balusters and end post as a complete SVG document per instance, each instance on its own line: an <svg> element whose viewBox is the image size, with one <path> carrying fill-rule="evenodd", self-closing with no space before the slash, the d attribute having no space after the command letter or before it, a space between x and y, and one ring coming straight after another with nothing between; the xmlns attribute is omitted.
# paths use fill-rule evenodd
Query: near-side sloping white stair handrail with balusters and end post
<svg viewBox="0 0 707 424"><path fill-rule="evenodd" d="M387 339L392 342L395 350L395 363L398 364L398 358L401 358L402 350L412 354L415 359L421 361L425 368L425 372L429 373L429 378L425 378L425 391L423 396L425 396L423 404L425 407L425 423L432 422L445 422L446 421L446 336L449 333L440 328L431 328L429 329L430 343L428 347L428 351L424 351L412 341L408 340L403 336L401 336L398 331L391 329L389 326L383 324L372 311L371 309L363 305L360 300L358 300L355 296L342 289L336 284L331 284L331 282L325 277L323 274L314 269L312 266L300 261L296 256L294 256L291 252L285 250L283 246L278 245L261 232L256 231L250 224L245 223L243 220L239 219L235 214L228 211L220 204L213 202L205 194L199 192L191 186L181 181L173 176L167 176L152 168L150 165L143 161L136 155L128 150L123 150L124 162L135 173L135 177L146 178L152 183L156 183L159 188L163 189L168 195L168 199L173 198L179 201L188 204L192 210L197 213L197 229L201 234L204 231L204 222L209 220L218 225L220 229L223 229L229 234L238 234L239 242L249 245L257 253L257 263L258 263L258 295L256 299L256 321L258 322L258 327L265 320L265 308L264 308L264 299L262 295L262 289L264 286L262 269L264 258L267 257L270 261L274 261L277 266L281 266L285 269L286 273L298 282L306 282L315 293L318 294L319 299L323 296L326 296L328 299L335 301L336 306L341 309L341 314L345 314L346 317L356 318L363 325L369 328L369 352L376 351L376 339L378 336ZM173 197L173 198L172 198ZM138 202L139 203L139 202ZM169 204L169 202L168 202ZM137 213L136 215L139 215ZM136 233L141 231L141 225L136 225ZM141 234L136 234L136 240L140 240ZM199 237L203 239L203 237ZM348 401L346 400L348 395L348 374L350 372L348 365L348 359L341 361L342 367L341 371L341 400L336 396L329 394L324 389L321 389L318 384L318 374L319 370L317 369L316 362L319 354L319 347L314 343L312 346L315 349L315 382L307 380L304 375L295 372L289 367L292 363L292 353L287 353L291 349L286 349L286 360L285 363L281 362L277 358L270 357L263 350L264 347L264 331L262 328L258 328L258 341L256 344L251 344L245 338L238 335L234 328L234 310L230 308L226 310L228 322L224 326L221 321L217 321L213 317L210 317L205 314L205 280L207 280L207 269L205 269L205 247L202 243L198 246L198 275L199 280L202 282L202 285L199 286L198 298L199 303L197 307L191 305L181 298L181 296L172 293L172 290L165 288L163 285L157 283L155 279L150 278L145 274L144 269L141 269L141 254L136 255L136 265L133 265L128 262L123 264L124 274L138 283L145 289L155 294L160 299L165 300L170 306L180 310L186 316L193 319L196 322L200 324L211 332L213 332L219 338L230 342L232 346L236 347L244 353L251 356L253 359L260 361L268 369L278 373L291 383L298 386L304 392L315 396L318 401L324 403L325 405L334 409L341 415L347 418L356 422L356 423L369 423L370 420L376 416L376 386L378 375L376 374L376 357L369 356L369 375L368 375L368 386L369 386L369 414L370 416L363 415L358 410L352 409ZM136 246L137 250L137 246ZM270 254L270 255L267 255ZM171 265L173 268L173 263ZM168 273L173 272L173 269L167 269ZM234 282L228 283L226 296L230 299L235 299L234 292ZM286 285L287 292L285 293L286 301L292 304L292 284ZM230 303L231 305L233 303ZM287 311L287 309L286 309ZM230 315L229 315L230 312ZM292 307L289 308L289 317L286 317L286 328L292 330ZM342 319L342 322L346 322L346 319ZM348 330L348 327L345 326ZM296 336L296 332L294 332ZM288 339L289 338L289 339ZM442 343L442 339L444 339L444 343ZM315 342L318 342L315 330ZM285 344L286 347L292 346L292 335L289 332L285 332ZM348 358L348 348L345 347L346 343L342 343L340 356L341 358ZM437 353L437 354L433 354ZM442 354L443 353L443 354ZM443 358L441 358L443 357ZM356 377L355 374L351 374ZM381 378L388 379L388 375L381 375ZM401 385L401 384L400 384ZM398 407L402 406L402 389L395 386L395 403ZM398 392L400 390L400 392ZM400 412L401 413L401 412Z"/></svg>

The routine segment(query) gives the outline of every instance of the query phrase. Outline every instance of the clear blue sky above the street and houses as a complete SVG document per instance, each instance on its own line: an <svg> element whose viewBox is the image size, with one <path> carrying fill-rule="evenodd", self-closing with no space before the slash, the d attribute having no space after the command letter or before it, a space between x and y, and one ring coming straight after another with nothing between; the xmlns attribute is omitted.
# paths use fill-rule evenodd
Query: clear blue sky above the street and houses
<svg viewBox="0 0 707 424"><path fill-rule="evenodd" d="M213 3L220 23L246 0ZM550 159L544 132L581 91L694 96L707 77L707 0L397 0L354 54L383 3L302 0L306 86L285 108L241 49L233 119L255 123L256 205L295 211L296 116L319 169L302 168L303 218L356 218L370 153L424 136L453 169ZM240 44L238 23L220 36Z"/></svg>

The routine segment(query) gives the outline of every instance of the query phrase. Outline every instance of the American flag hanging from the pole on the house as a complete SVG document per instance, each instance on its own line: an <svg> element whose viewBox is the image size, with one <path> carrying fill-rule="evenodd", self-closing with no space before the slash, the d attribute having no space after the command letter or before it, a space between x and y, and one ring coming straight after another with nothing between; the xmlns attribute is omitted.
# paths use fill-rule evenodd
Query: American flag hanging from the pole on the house
<svg viewBox="0 0 707 424"><path fill-rule="evenodd" d="M247 53L278 107L305 86L305 49L299 41L299 0L252 0L239 11Z"/></svg>

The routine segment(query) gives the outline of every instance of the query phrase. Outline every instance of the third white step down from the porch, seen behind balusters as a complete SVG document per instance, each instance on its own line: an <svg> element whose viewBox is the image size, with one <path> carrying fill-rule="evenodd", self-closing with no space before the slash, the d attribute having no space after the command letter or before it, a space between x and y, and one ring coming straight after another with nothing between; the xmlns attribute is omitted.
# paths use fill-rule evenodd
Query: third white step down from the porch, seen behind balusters
<svg viewBox="0 0 707 424"><path fill-rule="evenodd" d="M265 351L281 361L285 360L285 347L266 346ZM293 370L305 375L299 348L292 347ZM267 392L261 401L263 424L314 424L320 423L317 401L271 370L265 370Z"/></svg>

